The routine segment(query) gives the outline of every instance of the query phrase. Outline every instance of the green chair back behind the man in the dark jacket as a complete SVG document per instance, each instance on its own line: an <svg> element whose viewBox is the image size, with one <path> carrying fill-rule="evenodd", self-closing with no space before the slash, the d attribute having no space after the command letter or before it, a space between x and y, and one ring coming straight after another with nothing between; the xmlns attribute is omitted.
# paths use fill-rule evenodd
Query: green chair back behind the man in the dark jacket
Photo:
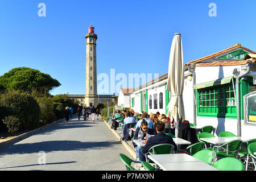
<svg viewBox="0 0 256 182"><path fill-rule="evenodd" d="M157 154L171 154L174 151L174 146L170 143L156 144L152 146L146 154L146 162L148 162L147 155Z"/></svg>

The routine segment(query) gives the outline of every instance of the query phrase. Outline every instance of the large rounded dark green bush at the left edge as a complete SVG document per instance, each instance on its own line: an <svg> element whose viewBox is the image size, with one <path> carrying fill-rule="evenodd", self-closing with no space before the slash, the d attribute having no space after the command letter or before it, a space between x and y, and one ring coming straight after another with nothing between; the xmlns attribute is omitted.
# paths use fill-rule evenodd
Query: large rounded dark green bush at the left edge
<svg viewBox="0 0 256 182"><path fill-rule="evenodd" d="M39 126L40 107L30 93L19 90L5 92L1 94L0 105L6 108L6 116L13 115L19 119L20 130L35 129Z"/></svg>

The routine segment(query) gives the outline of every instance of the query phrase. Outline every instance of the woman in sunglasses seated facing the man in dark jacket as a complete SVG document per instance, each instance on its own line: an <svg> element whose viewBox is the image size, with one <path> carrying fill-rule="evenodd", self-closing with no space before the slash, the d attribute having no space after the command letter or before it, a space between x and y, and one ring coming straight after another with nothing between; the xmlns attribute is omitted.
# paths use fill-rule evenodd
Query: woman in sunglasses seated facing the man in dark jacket
<svg viewBox="0 0 256 182"><path fill-rule="evenodd" d="M146 122L145 119L142 119L142 122L141 122L141 127L138 127L134 133L134 139L138 139L138 134L139 134L139 131L141 131L141 139L142 140L147 140L147 134L150 134L150 135L155 135L155 130L154 129L149 129L148 128L148 123ZM139 154L139 146L136 146L136 150L138 151L138 154ZM139 156L139 155L138 155ZM141 161L141 159L139 158L139 160Z"/></svg>

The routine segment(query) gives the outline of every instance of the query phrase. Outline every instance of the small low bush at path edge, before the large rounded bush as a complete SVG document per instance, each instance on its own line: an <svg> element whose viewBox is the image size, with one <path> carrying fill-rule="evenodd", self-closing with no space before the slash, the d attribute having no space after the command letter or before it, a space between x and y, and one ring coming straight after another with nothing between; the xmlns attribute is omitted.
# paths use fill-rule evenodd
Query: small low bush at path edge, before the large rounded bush
<svg viewBox="0 0 256 182"><path fill-rule="evenodd" d="M3 123L7 126L8 128L8 132L10 134L14 134L16 133L17 131L20 130L20 127L21 127L21 123L19 122L19 118L16 118L15 116L13 115L9 115L7 117L5 117L3 120Z"/></svg>

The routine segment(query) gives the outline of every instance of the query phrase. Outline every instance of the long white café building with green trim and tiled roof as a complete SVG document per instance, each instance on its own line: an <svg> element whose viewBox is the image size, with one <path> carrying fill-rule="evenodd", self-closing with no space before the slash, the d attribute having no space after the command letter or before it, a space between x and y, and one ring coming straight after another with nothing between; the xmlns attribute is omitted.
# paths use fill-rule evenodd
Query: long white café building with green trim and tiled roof
<svg viewBox="0 0 256 182"><path fill-rule="evenodd" d="M255 54L255 52L242 47L241 44L236 44L184 65L185 119L196 123L198 127L207 125L215 127L215 135L221 131L230 131L237 135L235 97L237 75L233 75L233 71L236 68L238 74L245 72L248 63L250 70L256 71L255 59L245 60L247 54ZM131 90L129 92L131 108L138 113L159 111L160 114L167 114L171 96L166 90L167 77L168 73ZM243 113L243 96L256 90L253 77L243 77L240 88L241 133L243 136L256 137L256 121L255 125L247 125Z"/></svg>

